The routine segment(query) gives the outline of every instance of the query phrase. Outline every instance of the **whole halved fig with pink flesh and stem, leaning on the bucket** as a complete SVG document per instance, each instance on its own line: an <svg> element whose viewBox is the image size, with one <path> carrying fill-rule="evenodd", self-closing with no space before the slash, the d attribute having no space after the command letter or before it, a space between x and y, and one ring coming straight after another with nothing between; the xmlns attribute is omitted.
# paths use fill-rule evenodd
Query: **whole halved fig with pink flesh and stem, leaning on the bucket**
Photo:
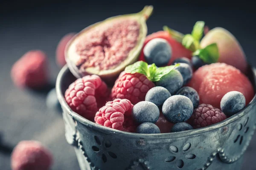
<svg viewBox="0 0 256 170"><path fill-rule="evenodd" d="M65 48L65 59L77 78L97 74L108 84L138 60L153 6L136 14L110 17L84 28Z"/></svg>

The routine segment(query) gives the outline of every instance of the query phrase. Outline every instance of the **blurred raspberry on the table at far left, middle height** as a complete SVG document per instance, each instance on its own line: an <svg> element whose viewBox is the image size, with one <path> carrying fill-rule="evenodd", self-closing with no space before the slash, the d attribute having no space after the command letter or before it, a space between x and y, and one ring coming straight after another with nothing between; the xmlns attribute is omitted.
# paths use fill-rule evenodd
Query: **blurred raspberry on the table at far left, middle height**
<svg viewBox="0 0 256 170"><path fill-rule="evenodd" d="M43 51L28 51L12 66L11 77L19 88L40 88L48 83L47 56Z"/></svg>

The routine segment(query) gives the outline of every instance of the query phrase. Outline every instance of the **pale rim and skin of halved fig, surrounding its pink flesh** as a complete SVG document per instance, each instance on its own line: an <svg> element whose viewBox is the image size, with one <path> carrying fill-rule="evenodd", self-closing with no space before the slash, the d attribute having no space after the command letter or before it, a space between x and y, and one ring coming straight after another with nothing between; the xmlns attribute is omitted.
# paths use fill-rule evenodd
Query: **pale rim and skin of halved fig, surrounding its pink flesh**
<svg viewBox="0 0 256 170"><path fill-rule="evenodd" d="M140 55L140 51L142 50L142 47L143 47L143 43L145 41L145 37L147 35L146 20L148 19L148 17L150 17L152 11L153 11L153 6L145 6L142 11L136 14L125 14L125 15L110 17L110 18L107 18L106 20L103 20L101 22L88 26L87 28L84 28L79 33L77 33L68 42L65 48L65 59L67 61L67 66L69 67L72 74L76 78L81 78L86 75L96 74L96 75L99 75L99 77L101 77L102 80L108 84L108 86L112 86L116 78L119 76L119 74L122 71L124 71L126 66L131 65L134 62L137 62L138 57ZM137 43L135 47L131 51L129 51L129 54L126 57L126 59L122 61L119 65L114 65L113 69L98 70L95 67L90 67L83 70L79 69L74 62L78 58L78 55L76 55L74 51L76 40L83 34L86 34L87 31L90 31L92 28L100 27L102 26L102 24L105 24L105 23L111 23L113 21L125 20L125 19L136 20L140 25L140 33L139 33L139 37L137 38Z"/></svg>

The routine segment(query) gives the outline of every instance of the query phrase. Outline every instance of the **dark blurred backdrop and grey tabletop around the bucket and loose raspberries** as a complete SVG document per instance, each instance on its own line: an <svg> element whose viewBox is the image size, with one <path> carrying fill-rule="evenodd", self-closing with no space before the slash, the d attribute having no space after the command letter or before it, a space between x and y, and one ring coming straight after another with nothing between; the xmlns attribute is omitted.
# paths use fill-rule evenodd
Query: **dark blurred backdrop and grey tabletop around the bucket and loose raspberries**
<svg viewBox="0 0 256 170"><path fill-rule="evenodd" d="M79 170L72 147L64 138L61 114L47 109L46 93L15 88L10 79L12 64L26 51L40 49L48 54L52 80L59 68L55 64L55 48L65 34L78 32L107 17L135 13L145 5L154 6L149 18L148 34L167 25L184 34L192 30L198 20L209 28L217 26L229 30L239 40L248 62L256 65L256 12L249 1L99 1L0 0L0 170L10 169L10 153L20 140L41 141L54 155L52 170ZM256 136L245 153L243 169L256 169Z"/></svg>

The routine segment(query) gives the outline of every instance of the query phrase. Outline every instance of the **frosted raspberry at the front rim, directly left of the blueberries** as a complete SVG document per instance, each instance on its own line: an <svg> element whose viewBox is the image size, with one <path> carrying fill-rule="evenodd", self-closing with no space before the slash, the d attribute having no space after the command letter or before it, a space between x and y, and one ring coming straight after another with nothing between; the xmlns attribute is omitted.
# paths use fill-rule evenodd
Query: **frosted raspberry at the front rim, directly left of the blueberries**
<svg viewBox="0 0 256 170"><path fill-rule="evenodd" d="M137 125L131 117L133 106L128 99L114 99L99 109L94 121L105 127L134 132Z"/></svg>

